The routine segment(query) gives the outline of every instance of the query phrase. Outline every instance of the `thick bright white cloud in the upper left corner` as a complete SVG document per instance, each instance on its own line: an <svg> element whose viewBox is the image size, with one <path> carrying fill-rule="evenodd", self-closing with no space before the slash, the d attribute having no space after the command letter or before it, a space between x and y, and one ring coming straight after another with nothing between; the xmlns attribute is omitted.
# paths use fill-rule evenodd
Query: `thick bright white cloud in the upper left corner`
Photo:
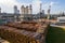
<svg viewBox="0 0 65 43"><path fill-rule="evenodd" d="M2 12L13 12L13 5L18 4L16 0L0 0Z"/></svg>

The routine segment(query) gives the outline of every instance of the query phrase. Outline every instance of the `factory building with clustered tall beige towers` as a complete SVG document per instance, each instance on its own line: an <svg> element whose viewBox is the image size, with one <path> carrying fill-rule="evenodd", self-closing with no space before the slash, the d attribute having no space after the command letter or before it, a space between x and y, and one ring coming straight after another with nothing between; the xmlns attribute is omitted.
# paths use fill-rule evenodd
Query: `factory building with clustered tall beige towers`
<svg viewBox="0 0 65 43"><path fill-rule="evenodd" d="M22 5L21 11L22 11L21 20L30 20L31 19L31 14L32 14L31 4L29 6Z"/></svg>

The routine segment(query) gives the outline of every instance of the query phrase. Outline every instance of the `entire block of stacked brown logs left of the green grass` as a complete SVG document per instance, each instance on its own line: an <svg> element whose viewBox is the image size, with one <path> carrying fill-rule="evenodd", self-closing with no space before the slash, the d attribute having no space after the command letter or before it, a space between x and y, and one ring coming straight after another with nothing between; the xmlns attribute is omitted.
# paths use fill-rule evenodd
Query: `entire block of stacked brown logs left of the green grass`
<svg viewBox="0 0 65 43"><path fill-rule="evenodd" d="M48 27L47 23L9 23L0 26L0 37L11 43L46 43Z"/></svg>

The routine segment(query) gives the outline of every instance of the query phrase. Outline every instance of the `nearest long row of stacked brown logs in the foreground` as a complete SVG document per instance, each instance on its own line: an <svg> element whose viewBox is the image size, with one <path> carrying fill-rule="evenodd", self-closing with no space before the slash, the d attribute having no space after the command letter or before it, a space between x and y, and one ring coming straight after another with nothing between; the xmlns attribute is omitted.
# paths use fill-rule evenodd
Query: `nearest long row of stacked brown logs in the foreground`
<svg viewBox="0 0 65 43"><path fill-rule="evenodd" d="M40 43L41 34L15 28L0 26L0 37L11 43Z"/></svg>

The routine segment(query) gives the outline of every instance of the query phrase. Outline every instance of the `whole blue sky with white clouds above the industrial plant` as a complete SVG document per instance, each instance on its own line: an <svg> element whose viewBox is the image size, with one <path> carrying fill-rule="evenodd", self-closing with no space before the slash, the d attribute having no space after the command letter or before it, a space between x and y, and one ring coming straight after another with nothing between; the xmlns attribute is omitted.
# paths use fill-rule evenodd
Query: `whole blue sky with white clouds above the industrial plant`
<svg viewBox="0 0 65 43"><path fill-rule="evenodd" d="M51 5L51 14L58 14L65 12L65 0L0 0L0 8L2 13L14 13L14 5L21 11L22 5L32 5L32 13L39 13L40 3L42 10L48 13L49 5Z"/></svg>

